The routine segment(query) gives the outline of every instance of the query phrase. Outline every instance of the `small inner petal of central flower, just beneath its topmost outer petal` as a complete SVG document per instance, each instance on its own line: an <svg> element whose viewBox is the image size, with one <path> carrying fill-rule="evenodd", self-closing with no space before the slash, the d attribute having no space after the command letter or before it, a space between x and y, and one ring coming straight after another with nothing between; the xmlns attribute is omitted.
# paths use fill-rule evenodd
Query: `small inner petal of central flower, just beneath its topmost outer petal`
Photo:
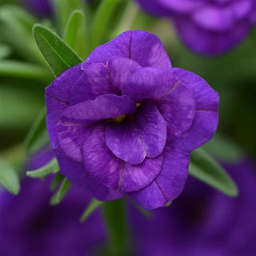
<svg viewBox="0 0 256 256"><path fill-rule="evenodd" d="M118 88L118 90L122 90L122 86L126 84L127 79L134 71L142 68L138 62L123 57L110 58L106 66L111 83L115 88Z"/></svg>

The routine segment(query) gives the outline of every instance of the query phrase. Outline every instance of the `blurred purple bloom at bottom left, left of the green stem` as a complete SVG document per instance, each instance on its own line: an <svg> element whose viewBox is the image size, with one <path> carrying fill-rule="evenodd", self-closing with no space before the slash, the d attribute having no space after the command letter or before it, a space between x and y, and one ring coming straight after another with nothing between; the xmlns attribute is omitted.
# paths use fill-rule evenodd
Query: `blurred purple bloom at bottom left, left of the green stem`
<svg viewBox="0 0 256 256"><path fill-rule="evenodd" d="M30 169L45 164L52 153L33 159ZM105 240L99 212L79 222L90 195L72 188L59 206L50 206L50 179L25 178L18 196L0 193L1 256L92 255Z"/></svg>

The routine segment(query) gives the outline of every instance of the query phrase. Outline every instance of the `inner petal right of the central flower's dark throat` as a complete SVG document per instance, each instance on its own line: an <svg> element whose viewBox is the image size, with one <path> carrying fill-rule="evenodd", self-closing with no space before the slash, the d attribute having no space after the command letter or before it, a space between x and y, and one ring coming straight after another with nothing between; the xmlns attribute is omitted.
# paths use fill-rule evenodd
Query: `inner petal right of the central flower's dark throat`
<svg viewBox="0 0 256 256"><path fill-rule="evenodd" d="M170 142L190 129L195 114L193 94L182 82L176 85L169 94L155 102L166 120L167 138Z"/></svg>

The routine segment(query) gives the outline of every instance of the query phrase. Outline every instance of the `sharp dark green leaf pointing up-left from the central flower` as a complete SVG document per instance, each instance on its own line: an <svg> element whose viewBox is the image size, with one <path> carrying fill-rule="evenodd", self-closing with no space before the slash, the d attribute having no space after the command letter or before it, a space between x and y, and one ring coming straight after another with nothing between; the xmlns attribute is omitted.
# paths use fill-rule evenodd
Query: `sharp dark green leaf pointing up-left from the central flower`
<svg viewBox="0 0 256 256"><path fill-rule="evenodd" d="M46 26L34 25L33 34L42 55L56 77L70 66L82 62L82 58L79 58L62 38Z"/></svg>

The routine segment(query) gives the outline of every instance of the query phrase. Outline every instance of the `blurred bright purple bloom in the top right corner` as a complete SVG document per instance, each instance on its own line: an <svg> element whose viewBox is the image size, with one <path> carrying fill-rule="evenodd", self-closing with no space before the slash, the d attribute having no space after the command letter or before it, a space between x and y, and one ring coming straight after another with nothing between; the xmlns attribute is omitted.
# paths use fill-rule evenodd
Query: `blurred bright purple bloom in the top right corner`
<svg viewBox="0 0 256 256"><path fill-rule="evenodd" d="M150 14L173 18L182 41L200 54L222 54L255 23L254 0L137 0Z"/></svg>

